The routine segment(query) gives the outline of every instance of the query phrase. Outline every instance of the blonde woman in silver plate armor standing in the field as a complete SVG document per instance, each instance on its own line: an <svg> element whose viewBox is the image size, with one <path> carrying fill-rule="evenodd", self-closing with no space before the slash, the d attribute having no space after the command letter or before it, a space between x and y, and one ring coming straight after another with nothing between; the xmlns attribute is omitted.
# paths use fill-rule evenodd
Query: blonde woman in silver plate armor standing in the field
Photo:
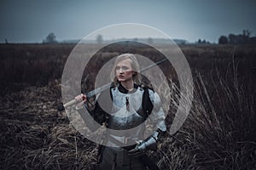
<svg viewBox="0 0 256 170"><path fill-rule="evenodd" d="M166 132L165 114L160 106L159 95L140 86L139 65L133 54L121 54L117 57L111 78L113 86L98 96L95 109L90 111L96 122L106 124L109 129L118 130L117 133L109 133L106 143L102 145L98 167L147 169L148 165L143 162L145 150L156 150L160 134ZM105 94L110 94L111 99L106 99ZM80 94L76 99L81 101L78 106L87 103L84 94ZM105 101L102 105L102 102L99 102L101 99ZM109 100L111 102L108 102ZM104 105L110 106L110 109L102 109ZM153 113L154 116L149 116ZM157 128L151 136L144 139L143 122L147 118L150 118ZM127 130L129 132L130 129L136 130L122 133Z"/></svg>

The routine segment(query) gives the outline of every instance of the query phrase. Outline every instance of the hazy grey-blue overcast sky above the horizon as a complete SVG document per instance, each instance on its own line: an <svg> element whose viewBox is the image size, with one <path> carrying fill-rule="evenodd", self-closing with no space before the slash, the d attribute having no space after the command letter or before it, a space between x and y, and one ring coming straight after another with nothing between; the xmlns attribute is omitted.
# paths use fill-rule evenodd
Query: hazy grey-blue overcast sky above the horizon
<svg viewBox="0 0 256 170"><path fill-rule="evenodd" d="M169 37L218 42L221 35L252 31L253 0L1 0L0 42L42 42L54 32L58 41L81 39L119 23L153 26Z"/></svg>

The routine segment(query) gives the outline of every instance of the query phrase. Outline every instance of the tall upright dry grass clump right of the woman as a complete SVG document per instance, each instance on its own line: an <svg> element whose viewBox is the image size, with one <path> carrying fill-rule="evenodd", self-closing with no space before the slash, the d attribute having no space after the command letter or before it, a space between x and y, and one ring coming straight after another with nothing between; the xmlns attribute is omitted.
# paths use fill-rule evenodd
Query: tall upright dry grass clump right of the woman
<svg viewBox="0 0 256 170"><path fill-rule="evenodd" d="M162 169L254 169L256 167L254 89L237 79L239 62L227 74L195 81L194 102L182 129L162 141L156 154ZM221 74L225 75L225 74ZM217 77L219 82L214 82ZM209 94L206 84L213 87ZM220 85L217 85L219 83ZM172 86L179 94L177 86ZM173 105L180 104L172 95Z"/></svg>

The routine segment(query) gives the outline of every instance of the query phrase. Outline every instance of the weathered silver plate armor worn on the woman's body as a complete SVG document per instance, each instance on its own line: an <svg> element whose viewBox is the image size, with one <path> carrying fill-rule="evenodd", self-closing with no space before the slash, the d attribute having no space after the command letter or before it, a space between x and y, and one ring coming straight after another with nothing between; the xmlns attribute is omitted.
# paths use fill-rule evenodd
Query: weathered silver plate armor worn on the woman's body
<svg viewBox="0 0 256 170"><path fill-rule="evenodd" d="M90 115L96 122L105 122L108 129L111 129L108 132L108 141L105 141L108 146L102 146L99 167L125 169L130 166L130 169L135 166L136 169L145 169L146 166L142 161L138 161L136 156L143 155L148 149L156 150L160 133L166 131L165 114L159 95L136 84L131 92L119 85L100 94L96 99L96 108ZM145 126L141 124L147 119L154 123L157 130L144 139ZM132 133L122 131L138 126ZM127 146L119 147L121 144Z"/></svg>

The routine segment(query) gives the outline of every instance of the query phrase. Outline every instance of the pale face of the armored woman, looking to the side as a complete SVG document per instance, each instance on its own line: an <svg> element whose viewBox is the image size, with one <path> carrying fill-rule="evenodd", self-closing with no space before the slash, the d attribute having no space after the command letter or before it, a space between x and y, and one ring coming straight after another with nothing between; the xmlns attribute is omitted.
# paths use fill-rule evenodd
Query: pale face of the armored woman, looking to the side
<svg viewBox="0 0 256 170"><path fill-rule="evenodd" d="M115 75L119 82L128 82L132 80L134 71L131 69L131 59L124 59L119 61L115 67Z"/></svg>

